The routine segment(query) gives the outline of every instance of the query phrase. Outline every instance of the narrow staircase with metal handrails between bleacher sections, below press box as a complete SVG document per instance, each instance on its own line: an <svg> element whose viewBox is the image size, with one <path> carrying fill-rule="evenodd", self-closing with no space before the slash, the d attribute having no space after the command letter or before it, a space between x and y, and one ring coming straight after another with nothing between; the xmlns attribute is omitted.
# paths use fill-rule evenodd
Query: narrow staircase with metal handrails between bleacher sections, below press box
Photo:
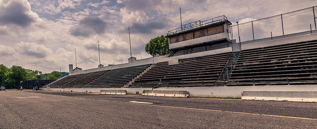
<svg viewBox="0 0 317 129"><path fill-rule="evenodd" d="M240 55L240 51L232 52L226 65L223 67L220 75L218 76L217 80L215 81L215 86L226 86L229 81L229 78L232 74L232 68L236 61L238 60Z"/></svg>

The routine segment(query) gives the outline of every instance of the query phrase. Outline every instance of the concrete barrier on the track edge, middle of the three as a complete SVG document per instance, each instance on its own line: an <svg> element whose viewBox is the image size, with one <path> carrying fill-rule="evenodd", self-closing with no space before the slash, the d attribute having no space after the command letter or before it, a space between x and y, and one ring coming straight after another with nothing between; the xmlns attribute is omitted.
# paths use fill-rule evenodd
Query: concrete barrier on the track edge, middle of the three
<svg viewBox="0 0 317 129"><path fill-rule="evenodd" d="M166 97L189 97L189 92L184 90L143 90L142 95L166 96Z"/></svg>

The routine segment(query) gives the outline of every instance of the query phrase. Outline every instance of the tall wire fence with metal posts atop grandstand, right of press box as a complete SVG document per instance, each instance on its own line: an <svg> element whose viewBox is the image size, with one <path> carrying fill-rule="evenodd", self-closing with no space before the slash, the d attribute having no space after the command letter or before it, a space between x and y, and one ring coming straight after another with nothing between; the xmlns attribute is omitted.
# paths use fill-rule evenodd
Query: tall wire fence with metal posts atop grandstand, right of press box
<svg viewBox="0 0 317 129"><path fill-rule="evenodd" d="M241 42L284 36L300 32L317 30L317 6L299 9L270 17L251 20L230 25L230 39L240 39ZM239 31L239 32L238 32ZM238 42L238 40L237 40Z"/></svg>

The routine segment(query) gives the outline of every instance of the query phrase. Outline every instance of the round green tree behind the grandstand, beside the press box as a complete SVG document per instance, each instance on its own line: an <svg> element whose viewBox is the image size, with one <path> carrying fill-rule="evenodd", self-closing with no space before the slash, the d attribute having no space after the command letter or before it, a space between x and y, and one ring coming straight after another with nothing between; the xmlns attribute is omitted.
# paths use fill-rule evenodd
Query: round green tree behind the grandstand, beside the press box
<svg viewBox="0 0 317 129"><path fill-rule="evenodd" d="M168 54L168 39L163 35L151 39L151 41L145 45L145 51L152 56Z"/></svg>

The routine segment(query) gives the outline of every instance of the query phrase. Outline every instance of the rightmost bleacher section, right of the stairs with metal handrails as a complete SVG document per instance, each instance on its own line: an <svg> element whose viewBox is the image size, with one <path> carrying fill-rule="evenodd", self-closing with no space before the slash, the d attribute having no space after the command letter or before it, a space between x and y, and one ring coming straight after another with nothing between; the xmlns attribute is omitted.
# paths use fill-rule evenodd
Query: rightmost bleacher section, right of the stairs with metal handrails
<svg viewBox="0 0 317 129"><path fill-rule="evenodd" d="M241 51L227 86L316 85L317 42Z"/></svg>

